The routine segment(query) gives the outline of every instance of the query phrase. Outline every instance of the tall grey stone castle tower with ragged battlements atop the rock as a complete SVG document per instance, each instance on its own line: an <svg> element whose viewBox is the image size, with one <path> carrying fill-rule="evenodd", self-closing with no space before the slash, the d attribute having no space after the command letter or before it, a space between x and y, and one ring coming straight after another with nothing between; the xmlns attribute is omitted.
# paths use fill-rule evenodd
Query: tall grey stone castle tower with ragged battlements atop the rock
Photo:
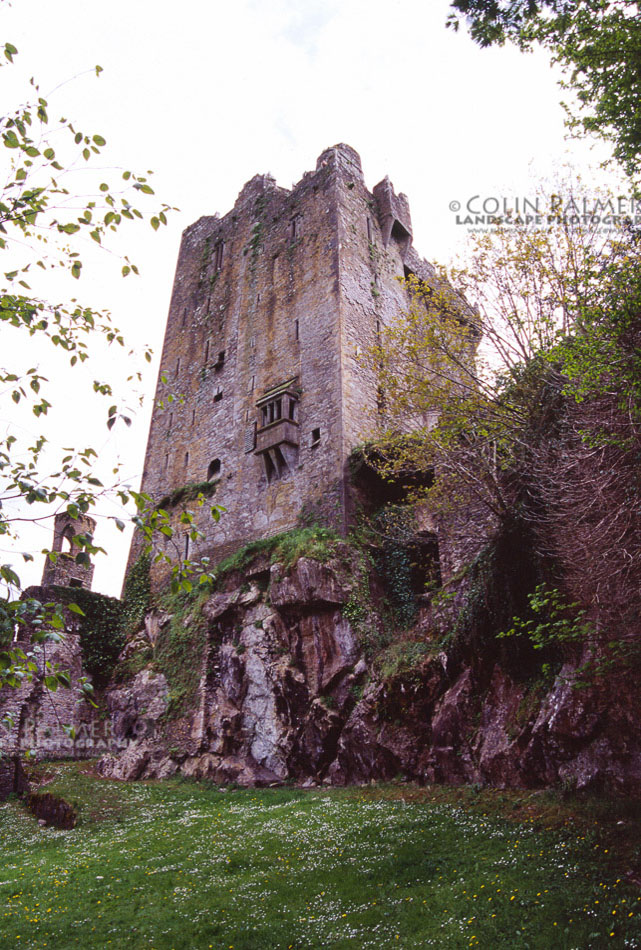
<svg viewBox="0 0 641 950"><path fill-rule="evenodd" d="M257 175L228 214L185 230L142 480L175 513L168 550L217 560L303 511L345 528L348 456L377 409L359 355L407 308L409 273L435 276L407 199L388 178L368 191L348 145L291 191ZM190 550L180 506L203 483L226 511L199 514L206 540Z"/></svg>

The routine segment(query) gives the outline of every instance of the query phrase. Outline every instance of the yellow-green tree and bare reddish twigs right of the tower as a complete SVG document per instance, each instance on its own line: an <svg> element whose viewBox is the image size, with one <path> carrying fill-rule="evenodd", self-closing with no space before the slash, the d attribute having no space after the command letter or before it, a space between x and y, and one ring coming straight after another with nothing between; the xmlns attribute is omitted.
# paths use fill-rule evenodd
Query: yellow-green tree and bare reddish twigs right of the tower
<svg viewBox="0 0 641 950"><path fill-rule="evenodd" d="M410 279L367 356L385 394L372 460L433 472L459 562L518 520L572 597L615 618L641 612L639 251L625 228L505 224L434 287Z"/></svg>

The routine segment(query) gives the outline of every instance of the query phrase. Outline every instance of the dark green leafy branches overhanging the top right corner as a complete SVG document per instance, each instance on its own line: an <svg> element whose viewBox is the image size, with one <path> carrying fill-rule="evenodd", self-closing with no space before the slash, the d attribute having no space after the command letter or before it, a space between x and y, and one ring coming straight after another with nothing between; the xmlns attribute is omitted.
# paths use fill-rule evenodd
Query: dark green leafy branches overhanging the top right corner
<svg viewBox="0 0 641 950"><path fill-rule="evenodd" d="M613 145L631 176L641 170L641 17L637 0L452 0L448 25L480 46L540 44L576 95L575 130Z"/></svg>

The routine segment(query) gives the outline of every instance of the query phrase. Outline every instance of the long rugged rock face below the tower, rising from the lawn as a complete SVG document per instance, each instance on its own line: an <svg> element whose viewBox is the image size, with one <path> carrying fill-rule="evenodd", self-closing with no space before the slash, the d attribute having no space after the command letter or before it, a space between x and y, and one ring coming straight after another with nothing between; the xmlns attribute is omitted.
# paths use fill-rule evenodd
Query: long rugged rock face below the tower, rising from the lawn
<svg viewBox="0 0 641 950"><path fill-rule="evenodd" d="M108 694L116 778L180 772L219 784L294 780L351 784L403 775L419 782L641 792L638 700L574 688L586 657L556 679L518 679L496 650L434 649L375 675L345 609L354 570L301 558L254 565L201 608L198 687L177 714L172 672L151 666ZM194 615L181 630L197 623ZM172 620L148 618L125 648L162 646ZM375 621L373 621L375 622ZM429 640L424 611L414 631ZM362 632L362 631L361 631ZM182 634L181 634L182 635ZM423 641L423 642L424 642Z"/></svg>

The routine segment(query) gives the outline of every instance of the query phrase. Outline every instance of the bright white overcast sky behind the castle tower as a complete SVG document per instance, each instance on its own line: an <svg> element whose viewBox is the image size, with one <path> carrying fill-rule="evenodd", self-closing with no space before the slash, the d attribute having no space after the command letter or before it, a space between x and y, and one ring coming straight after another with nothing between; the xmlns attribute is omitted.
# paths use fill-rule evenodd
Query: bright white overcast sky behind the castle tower
<svg viewBox="0 0 641 950"><path fill-rule="evenodd" d="M3 41L20 51L16 65L0 71L5 109L28 94L30 76L47 96L99 63L100 79L66 83L49 96L50 111L102 134L113 166L154 169L158 197L181 209L157 234L141 225L126 235L122 246L140 278L120 279L104 254L69 290L110 308L132 344L153 346L146 411L108 438L105 407L85 399L80 383L70 389L71 373L61 368L53 378L49 366L52 441L92 444L107 468L119 454L132 484L139 477L181 231L203 214L226 213L254 174L271 172L290 186L327 146L347 142L360 152L370 188L389 174L408 195L419 253L447 262L466 237L450 201L527 196L533 176L555 164L583 167L602 157L586 142L565 141L557 73L545 54L479 50L465 31L445 29L448 7L447 0L0 5ZM107 377L124 372L121 357L101 365ZM7 424L3 406L2 431ZM38 551L49 537L49 526L29 529L19 550ZM104 520L98 541L109 556L97 561L94 588L117 594L128 537ZM22 569L24 582L38 583L41 570L41 560Z"/></svg>

